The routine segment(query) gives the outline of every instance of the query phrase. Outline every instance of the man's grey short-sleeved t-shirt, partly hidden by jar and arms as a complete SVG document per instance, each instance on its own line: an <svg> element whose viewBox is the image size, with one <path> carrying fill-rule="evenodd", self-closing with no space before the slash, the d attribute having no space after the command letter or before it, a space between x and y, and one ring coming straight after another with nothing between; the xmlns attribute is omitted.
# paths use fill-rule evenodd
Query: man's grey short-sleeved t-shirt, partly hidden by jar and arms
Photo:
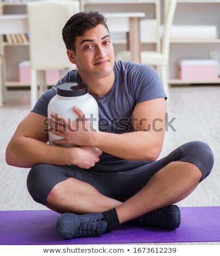
<svg viewBox="0 0 220 256"><path fill-rule="evenodd" d="M99 105L99 130L103 132L131 132L131 117L135 105L146 100L165 97L160 78L150 66L133 62L115 62L114 84L103 97L94 96ZM64 82L82 82L77 70L71 70L60 79L56 86L41 95L32 112L47 117L47 106L56 95L57 86ZM147 118L147 117L146 117ZM89 171L123 172L151 163L150 161L132 161L120 159L105 152Z"/></svg>

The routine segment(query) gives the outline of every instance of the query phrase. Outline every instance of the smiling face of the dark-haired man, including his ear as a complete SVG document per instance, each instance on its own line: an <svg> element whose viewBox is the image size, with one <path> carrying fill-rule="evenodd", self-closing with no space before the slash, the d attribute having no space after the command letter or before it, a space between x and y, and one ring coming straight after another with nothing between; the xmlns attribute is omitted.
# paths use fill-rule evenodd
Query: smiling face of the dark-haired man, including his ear
<svg viewBox="0 0 220 256"><path fill-rule="evenodd" d="M88 29L76 38L76 53L68 51L70 61L76 64L82 78L103 78L113 72L114 49L103 25Z"/></svg>

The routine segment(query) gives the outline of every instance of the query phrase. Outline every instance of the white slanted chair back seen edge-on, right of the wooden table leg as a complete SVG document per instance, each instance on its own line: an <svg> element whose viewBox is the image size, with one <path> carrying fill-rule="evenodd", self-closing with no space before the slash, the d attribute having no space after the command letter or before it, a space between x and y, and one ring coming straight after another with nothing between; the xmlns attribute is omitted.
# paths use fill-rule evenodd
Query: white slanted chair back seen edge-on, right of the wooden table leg
<svg viewBox="0 0 220 256"><path fill-rule="evenodd" d="M169 57L170 29L173 23L175 9L176 0L165 0L165 23L162 36L162 55L165 57L166 60L168 60Z"/></svg>

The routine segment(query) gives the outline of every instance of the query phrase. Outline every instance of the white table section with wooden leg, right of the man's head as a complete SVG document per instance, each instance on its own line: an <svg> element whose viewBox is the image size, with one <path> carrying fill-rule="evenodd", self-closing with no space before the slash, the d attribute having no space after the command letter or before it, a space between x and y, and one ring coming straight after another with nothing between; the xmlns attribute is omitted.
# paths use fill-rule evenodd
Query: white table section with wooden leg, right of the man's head
<svg viewBox="0 0 220 256"><path fill-rule="evenodd" d="M109 32L129 32L131 60L140 63L140 17L145 13L105 13Z"/></svg>

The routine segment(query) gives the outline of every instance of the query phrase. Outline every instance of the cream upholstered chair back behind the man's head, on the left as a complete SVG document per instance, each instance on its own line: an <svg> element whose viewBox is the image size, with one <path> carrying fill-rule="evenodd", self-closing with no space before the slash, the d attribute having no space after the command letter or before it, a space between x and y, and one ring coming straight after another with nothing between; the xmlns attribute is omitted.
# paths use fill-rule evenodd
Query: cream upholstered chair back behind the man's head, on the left
<svg viewBox="0 0 220 256"><path fill-rule="evenodd" d="M41 0L27 3L29 58L35 70L72 69L62 38L68 19L80 11L80 2Z"/></svg>

